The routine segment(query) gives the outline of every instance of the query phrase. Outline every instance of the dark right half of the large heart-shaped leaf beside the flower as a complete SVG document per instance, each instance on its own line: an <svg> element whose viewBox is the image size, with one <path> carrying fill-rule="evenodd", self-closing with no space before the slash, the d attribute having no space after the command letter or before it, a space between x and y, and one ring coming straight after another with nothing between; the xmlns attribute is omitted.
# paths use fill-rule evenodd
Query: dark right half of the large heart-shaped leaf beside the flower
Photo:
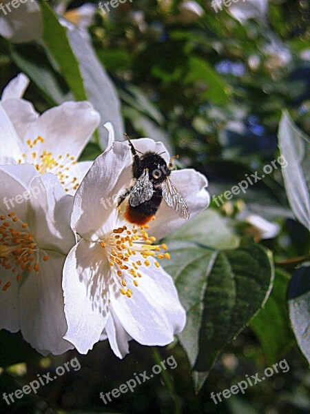
<svg viewBox="0 0 310 414"><path fill-rule="evenodd" d="M272 282L271 261L258 244L218 253L207 274L196 371L209 371L218 353L263 306Z"/></svg>

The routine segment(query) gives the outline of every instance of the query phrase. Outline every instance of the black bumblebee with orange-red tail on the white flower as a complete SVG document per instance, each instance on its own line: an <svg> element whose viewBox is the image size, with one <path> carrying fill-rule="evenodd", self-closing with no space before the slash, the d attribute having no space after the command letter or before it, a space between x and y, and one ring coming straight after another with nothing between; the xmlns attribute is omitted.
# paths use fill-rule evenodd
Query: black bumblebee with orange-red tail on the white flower
<svg viewBox="0 0 310 414"><path fill-rule="evenodd" d="M161 154L147 151L144 154L134 148L132 141L125 134L132 152L132 175L134 185L118 201L118 206L129 196L124 217L132 224L143 226L156 215L163 199L178 215L187 220L189 211L183 198L169 179L173 168L173 159L167 165Z"/></svg>

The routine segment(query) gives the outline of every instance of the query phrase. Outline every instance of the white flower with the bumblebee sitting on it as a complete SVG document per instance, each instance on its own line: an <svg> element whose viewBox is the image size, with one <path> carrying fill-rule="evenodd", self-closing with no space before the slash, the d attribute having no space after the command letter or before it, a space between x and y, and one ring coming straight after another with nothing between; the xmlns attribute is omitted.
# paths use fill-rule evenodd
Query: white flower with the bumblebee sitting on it
<svg viewBox="0 0 310 414"><path fill-rule="evenodd" d="M161 143L147 138L133 143L140 152L165 152L163 157L169 159ZM181 170L170 177L191 217L208 206L203 175ZM185 326L185 311L172 278L159 264L161 259L169 259L167 246L154 245L184 220L162 201L149 226L125 222L116 199L131 178L130 148L127 143L114 142L94 161L74 197L72 228L81 240L66 259L63 290L68 323L65 339L80 353L87 353L103 333L114 353L123 357L129 352L129 339L163 346Z"/></svg>

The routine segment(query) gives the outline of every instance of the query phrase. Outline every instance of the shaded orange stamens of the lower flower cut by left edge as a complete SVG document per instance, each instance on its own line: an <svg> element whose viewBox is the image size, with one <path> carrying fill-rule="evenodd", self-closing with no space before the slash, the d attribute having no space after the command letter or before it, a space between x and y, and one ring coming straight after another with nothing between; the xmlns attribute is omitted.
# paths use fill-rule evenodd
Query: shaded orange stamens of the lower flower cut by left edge
<svg viewBox="0 0 310 414"><path fill-rule="evenodd" d="M21 280L21 273L39 272L39 247L33 239L27 223L23 223L12 213L0 216L0 266L12 273L17 273L17 282ZM43 257L46 262L48 255ZM0 279L0 285L2 280ZM3 292L10 288L9 280L2 287Z"/></svg>

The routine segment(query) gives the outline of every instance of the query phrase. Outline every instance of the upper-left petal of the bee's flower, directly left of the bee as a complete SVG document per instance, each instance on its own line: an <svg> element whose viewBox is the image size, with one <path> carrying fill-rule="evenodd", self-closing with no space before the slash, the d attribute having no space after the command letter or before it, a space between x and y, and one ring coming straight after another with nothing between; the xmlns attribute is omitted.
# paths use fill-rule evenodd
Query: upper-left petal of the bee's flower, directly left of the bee
<svg viewBox="0 0 310 414"><path fill-rule="evenodd" d="M79 235L96 240L112 231L111 223L117 215L115 200L130 184L131 164L130 149L121 142L95 159L74 197L71 225Z"/></svg>

